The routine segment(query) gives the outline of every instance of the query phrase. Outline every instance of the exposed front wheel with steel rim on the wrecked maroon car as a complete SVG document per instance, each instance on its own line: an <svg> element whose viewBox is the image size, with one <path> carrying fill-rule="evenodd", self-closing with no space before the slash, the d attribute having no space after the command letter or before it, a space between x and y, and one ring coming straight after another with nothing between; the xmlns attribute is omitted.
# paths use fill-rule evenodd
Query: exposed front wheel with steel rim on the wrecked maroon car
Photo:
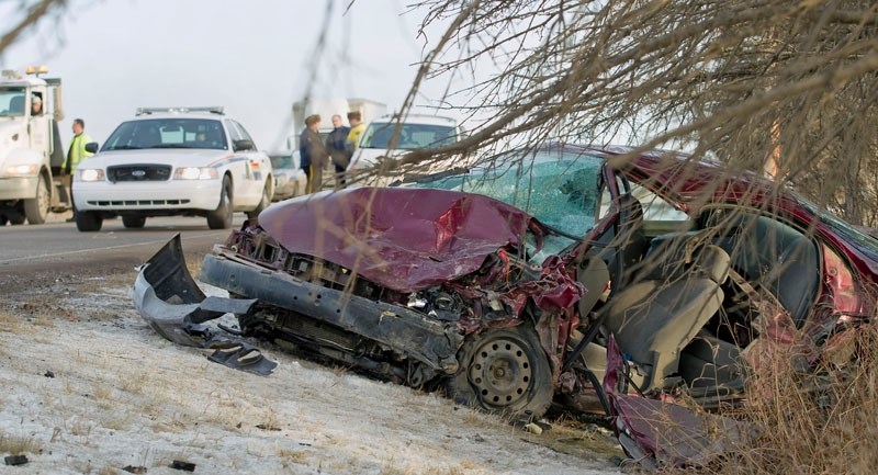
<svg viewBox="0 0 878 475"><path fill-rule="evenodd" d="M455 403L540 417L554 396L549 358L530 324L469 335L446 389Z"/></svg>

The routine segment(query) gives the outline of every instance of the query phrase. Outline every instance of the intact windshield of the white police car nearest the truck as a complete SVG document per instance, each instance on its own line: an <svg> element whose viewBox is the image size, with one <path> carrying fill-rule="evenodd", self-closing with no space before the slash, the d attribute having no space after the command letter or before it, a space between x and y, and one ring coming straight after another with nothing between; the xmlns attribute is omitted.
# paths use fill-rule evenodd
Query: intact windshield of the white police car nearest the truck
<svg viewBox="0 0 878 475"><path fill-rule="evenodd" d="M206 118L149 118L123 122L106 139L102 150L142 148L206 148L227 150L219 121Z"/></svg>

